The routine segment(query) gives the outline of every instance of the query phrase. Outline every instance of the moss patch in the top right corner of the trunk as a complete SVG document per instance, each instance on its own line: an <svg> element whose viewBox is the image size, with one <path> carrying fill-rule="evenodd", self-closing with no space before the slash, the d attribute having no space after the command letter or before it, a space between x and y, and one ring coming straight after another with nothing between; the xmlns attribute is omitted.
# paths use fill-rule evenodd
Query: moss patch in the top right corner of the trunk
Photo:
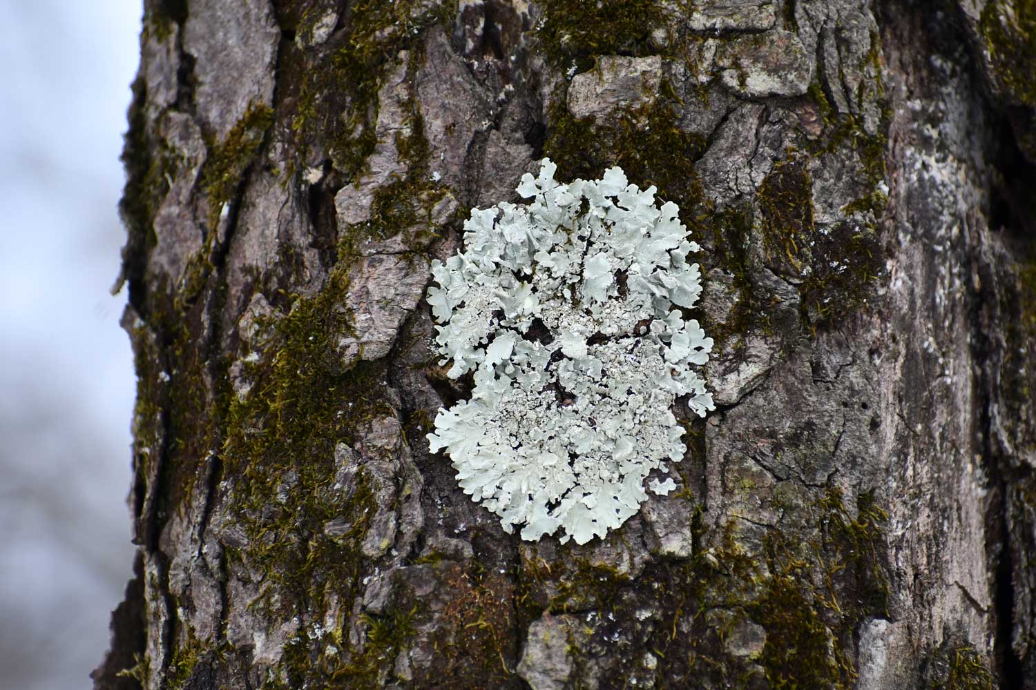
<svg viewBox="0 0 1036 690"><path fill-rule="evenodd" d="M1008 99L1036 107L1036 0L992 0L982 9L979 30Z"/></svg>

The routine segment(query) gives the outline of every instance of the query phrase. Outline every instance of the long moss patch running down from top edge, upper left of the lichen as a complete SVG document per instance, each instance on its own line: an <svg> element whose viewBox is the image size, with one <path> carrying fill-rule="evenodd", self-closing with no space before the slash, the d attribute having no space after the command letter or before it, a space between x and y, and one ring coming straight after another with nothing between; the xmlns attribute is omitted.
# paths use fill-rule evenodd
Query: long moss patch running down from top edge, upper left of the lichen
<svg viewBox="0 0 1036 690"><path fill-rule="evenodd" d="M355 179L373 153L380 82L400 51L420 49L427 29L449 25L456 1L433 5L424 0L358 0L336 37L299 73L292 129L297 149L309 143L330 155L335 168Z"/></svg>

